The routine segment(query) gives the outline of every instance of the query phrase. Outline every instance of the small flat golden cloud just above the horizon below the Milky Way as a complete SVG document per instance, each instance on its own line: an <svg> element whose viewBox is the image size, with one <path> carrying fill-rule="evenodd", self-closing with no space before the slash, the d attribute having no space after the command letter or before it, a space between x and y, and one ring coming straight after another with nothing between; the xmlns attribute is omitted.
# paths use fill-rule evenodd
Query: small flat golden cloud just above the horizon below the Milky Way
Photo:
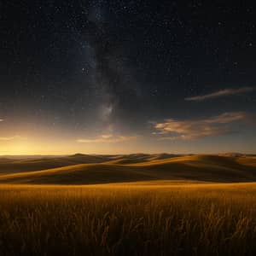
<svg viewBox="0 0 256 256"><path fill-rule="evenodd" d="M77 139L78 143L123 143L132 140L136 140L136 136L113 136L111 134L103 134L99 137L88 139L80 138Z"/></svg>

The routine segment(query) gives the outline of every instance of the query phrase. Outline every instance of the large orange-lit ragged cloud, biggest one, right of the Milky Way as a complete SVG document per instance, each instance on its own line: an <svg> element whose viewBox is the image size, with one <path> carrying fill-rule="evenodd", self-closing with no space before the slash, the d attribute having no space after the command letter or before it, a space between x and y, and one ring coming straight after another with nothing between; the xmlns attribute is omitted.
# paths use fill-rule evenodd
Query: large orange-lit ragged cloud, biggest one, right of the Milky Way
<svg viewBox="0 0 256 256"><path fill-rule="evenodd" d="M233 122L245 122L251 117L244 112L222 113L207 119L166 119L154 125L154 134L160 134L160 140L191 140L202 137L220 136L234 133L229 127ZM168 136L167 136L168 135Z"/></svg>

